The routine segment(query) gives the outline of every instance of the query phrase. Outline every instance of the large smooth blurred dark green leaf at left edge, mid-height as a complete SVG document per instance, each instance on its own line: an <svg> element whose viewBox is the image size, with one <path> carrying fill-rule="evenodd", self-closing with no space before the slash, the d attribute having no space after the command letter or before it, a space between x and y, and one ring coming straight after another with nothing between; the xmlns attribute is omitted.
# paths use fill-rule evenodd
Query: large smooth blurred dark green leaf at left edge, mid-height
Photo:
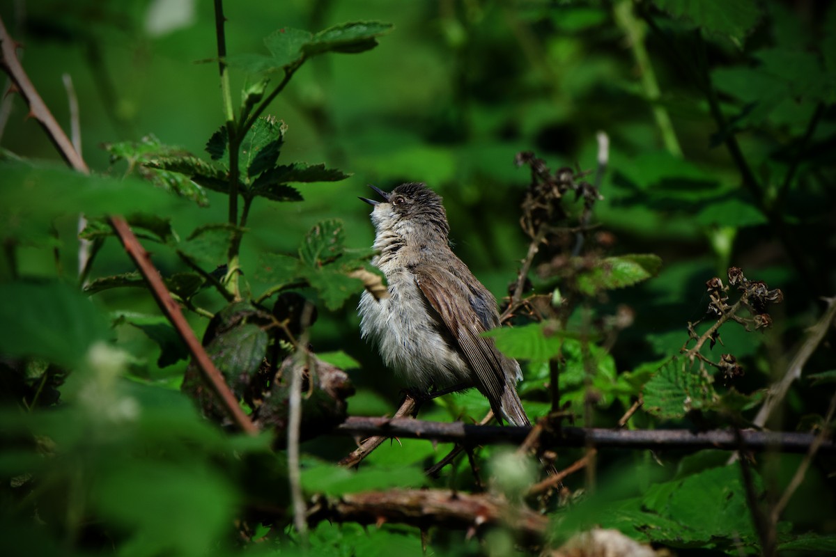
<svg viewBox="0 0 836 557"><path fill-rule="evenodd" d="M0 353L42 357L66 367L82 361L94 342L110 337L87 296L59 282L0 285Z"/></svg>

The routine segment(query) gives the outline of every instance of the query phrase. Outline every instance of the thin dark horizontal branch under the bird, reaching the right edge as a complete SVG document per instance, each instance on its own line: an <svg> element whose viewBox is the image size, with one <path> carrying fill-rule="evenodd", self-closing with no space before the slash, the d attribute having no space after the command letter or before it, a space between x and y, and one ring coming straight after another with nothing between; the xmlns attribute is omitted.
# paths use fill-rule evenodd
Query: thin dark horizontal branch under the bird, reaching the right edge
<svg viewBox="0 0 836 557"><path fill-rule="evenodd" d="M461 422L426 422L413 418L361 418L352 416L334 433L362 437L415 438L441 443L482 445L523 443L530 428L517 426L480 426ZM806 453L816 436L812 433L774 433L742 431L743 443L750 451ZM560 428L560 437L542 438L543 447L649 448L653 450L716 448L737 450L734 432L711 430L693 433L685 429L619 430L605 428ZM823 442L819 453L836 453L833 440Z"/></svg>

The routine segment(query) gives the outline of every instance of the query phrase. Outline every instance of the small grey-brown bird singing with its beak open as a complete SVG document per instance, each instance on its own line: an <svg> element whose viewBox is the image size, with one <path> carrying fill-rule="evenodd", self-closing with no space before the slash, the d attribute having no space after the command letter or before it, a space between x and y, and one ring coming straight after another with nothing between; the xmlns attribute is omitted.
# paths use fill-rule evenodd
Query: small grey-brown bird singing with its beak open
<svg viewBox="0 0 836 557"><path fill-rule="evenodd" d="M375 209L372 263L389 283L387 298L360 297L360 332L380 348L385 364L408 387L477 387L502 423L529 425L517 395L519 363L481 332L499 327L497 301L450 248L441 196L424 184L402 184Z"/></svg>

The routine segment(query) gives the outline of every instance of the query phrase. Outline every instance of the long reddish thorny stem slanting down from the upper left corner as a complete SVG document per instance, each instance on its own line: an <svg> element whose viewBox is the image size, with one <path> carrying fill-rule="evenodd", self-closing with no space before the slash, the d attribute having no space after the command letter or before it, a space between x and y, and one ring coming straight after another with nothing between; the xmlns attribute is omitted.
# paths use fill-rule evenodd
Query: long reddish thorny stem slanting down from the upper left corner
<svg viewBox="0 0 836 557"><path fill-rule="evenodd" d="M3 19L0 18L0 52L3 54L3 58L0 59L0 67L8 73L9 78L17 86L18 92L29 105L30 116L36 119L38 124L46 131L49 139L52 140L55 148L58 149L59 154L67 161L67 164L74 170L89 175L90 170L84 162L84 159L74 149L73 144L67 138L67 135L64 134L64 129L61 129L61 126L49 111L47 105L43 103L43 99L38 94L38 90L35 89L35 86L20 65L15 48L16 43L9 37L3 25ZM122 245L125 246L125 251L135 261L142 276L145 277L145 281L148 282L155 301L166 314L169 321L171 321L171 324L176 328L183 342L186 342L186 346L189 348L192 357L195 358L195 362L197 362L198 367L203 372L206 381L217 393L221 403L233 421L247 433L258 433L258 429L247 418L247 415L243 413L241 407L238 405L237 399L229 390L229 387L227 387L223 375L215 367L215 364L212 363L212 359L206 354L200 341L197 340L195 333L189 327L188 322L186 322L186 317L183 316L180 306L171 298L171 293L166 289L160 271L157 271L155 266L151 264L148 252L145 251L136 239L128 223L121 216L111 216L110 224L113 225L116 234L119 235Z"/></svg>

